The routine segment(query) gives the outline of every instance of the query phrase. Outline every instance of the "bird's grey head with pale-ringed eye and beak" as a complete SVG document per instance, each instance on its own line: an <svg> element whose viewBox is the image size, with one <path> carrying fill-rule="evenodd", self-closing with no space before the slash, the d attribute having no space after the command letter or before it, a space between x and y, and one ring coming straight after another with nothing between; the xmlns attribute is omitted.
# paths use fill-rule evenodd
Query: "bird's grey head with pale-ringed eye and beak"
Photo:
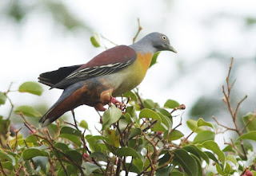
<svg viewBox="0 0 256 176"><path fill-rule="evenodd" d="M147 47L153 47L152 49L155 52L158 51L172 51L177 53L176 49L170 45L170 41L165 34L162 33L150 33L143 37L140 41L137 42L138 45L144 45Z"/></svg>

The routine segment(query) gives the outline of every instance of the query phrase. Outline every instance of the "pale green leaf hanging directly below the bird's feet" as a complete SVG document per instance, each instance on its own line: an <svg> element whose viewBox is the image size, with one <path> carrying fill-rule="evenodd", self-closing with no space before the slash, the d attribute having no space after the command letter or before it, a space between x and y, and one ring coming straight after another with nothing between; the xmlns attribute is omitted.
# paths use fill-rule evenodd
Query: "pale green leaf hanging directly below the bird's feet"
<svg viewBox="0 0 256 176"><path fill-rule="evenodd" d="M116 108L112 105L109 109L107 109L102 115L102 130L109 129L111 124L118 121L121 118L122 111L119 108Z"/></svg>

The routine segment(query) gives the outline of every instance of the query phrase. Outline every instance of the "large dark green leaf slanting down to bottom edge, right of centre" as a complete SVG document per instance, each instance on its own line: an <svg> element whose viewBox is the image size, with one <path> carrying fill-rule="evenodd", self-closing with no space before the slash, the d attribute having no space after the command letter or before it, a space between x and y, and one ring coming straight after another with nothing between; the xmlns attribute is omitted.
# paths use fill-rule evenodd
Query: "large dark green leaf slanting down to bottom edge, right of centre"
<svg viewBox="0 0 256 176"><path fill-rule="evenodd" d="M195 159L183 149L174 150L174 161L178 162L190 176L198 176L198 164Z"/></svg>

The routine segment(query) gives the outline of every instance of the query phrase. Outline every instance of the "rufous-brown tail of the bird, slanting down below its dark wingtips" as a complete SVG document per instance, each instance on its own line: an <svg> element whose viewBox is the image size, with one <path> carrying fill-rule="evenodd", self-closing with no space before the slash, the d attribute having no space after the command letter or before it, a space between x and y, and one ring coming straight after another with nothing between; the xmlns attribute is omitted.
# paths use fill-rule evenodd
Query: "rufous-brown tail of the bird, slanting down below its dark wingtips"
<svg viewBox="0 0 256 176"><path fill-rule="evenodd" d="M70 111L81 105L78 97L82 96L82 85L82 83L76 83L63 91L62 96L59 97L58 101L48 111L46 111L45 115L42 115L41 119L39 119L41 127L48 126L66 111Z"/></svg>

